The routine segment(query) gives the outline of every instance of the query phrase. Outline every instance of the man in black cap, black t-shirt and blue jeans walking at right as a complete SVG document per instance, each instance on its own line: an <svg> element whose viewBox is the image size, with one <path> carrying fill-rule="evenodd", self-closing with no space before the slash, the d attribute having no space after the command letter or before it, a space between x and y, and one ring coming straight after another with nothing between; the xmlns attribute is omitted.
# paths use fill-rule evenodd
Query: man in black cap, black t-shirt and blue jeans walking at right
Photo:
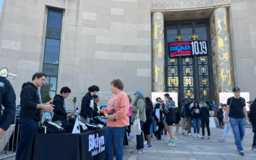
<svg viewBox="0 0 256 160"><path fill-rule="evenodd" d="M247 117L247 110L244 98L240 97L240 89L233 89L234 97L230 97L227 100L227 115L226 115L226 124L230 121L232 126L235 144L237 150L239 150L239 155L244 156L244 150L242 147L242 141L245 134L245 123L244 116L246 118L246 124L249 124ZM229 116L229 121L228 121Z"/></svg>

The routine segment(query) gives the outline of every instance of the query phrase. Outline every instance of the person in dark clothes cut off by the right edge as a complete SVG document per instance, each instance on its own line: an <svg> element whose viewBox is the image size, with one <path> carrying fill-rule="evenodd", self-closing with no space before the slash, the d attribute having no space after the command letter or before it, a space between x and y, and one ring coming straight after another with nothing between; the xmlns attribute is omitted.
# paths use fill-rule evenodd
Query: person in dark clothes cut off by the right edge
<svg viewBox="0 0 256 160"><path fill-rule="evenodd" d="M256 99L250 105L250 122L252 123L252 131L254 132L252 151L256 151Z"/></svg>

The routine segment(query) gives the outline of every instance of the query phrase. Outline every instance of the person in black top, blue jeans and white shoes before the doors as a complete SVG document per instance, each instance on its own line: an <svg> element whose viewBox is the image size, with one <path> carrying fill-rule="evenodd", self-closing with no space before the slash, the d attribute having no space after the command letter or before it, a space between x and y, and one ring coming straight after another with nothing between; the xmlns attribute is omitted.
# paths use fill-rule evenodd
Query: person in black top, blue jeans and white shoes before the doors
<svg viewBox="0 0 256 160"><path fill-rule="evenodd" d="M193 118L195 138L201 138L201 136L200 136L200 107L198 106L198 102L195 102L194 106L191 108L191 115ZM196 131L197 131L197 133L196 133Z"/></svg>

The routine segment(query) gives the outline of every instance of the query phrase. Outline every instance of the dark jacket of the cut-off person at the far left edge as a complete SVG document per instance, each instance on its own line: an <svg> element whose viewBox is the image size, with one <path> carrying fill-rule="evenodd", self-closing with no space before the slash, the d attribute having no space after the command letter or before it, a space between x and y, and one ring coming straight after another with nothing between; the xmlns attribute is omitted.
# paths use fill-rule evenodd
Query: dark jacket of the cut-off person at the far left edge
<svg viewBox="0 0 256 160"><path fill-rule="evenodd" d="M12 84L0 76L0 111L4 106L3 115L0 112L0 128L7 131L15 118L16 95Z"/></svg>

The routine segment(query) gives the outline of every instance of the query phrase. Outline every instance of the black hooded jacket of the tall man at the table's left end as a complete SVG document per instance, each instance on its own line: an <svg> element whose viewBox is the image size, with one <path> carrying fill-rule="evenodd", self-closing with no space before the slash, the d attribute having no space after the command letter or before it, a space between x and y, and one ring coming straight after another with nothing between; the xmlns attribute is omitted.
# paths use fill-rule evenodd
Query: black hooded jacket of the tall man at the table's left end
<svg viewBox="0 0 256 160"><path fill-rule="evenodd" d="M30 118L40 122L42 109L36 109L41 104L41 95L35 84L24 83L20 92L20 118Z"/></svg>

